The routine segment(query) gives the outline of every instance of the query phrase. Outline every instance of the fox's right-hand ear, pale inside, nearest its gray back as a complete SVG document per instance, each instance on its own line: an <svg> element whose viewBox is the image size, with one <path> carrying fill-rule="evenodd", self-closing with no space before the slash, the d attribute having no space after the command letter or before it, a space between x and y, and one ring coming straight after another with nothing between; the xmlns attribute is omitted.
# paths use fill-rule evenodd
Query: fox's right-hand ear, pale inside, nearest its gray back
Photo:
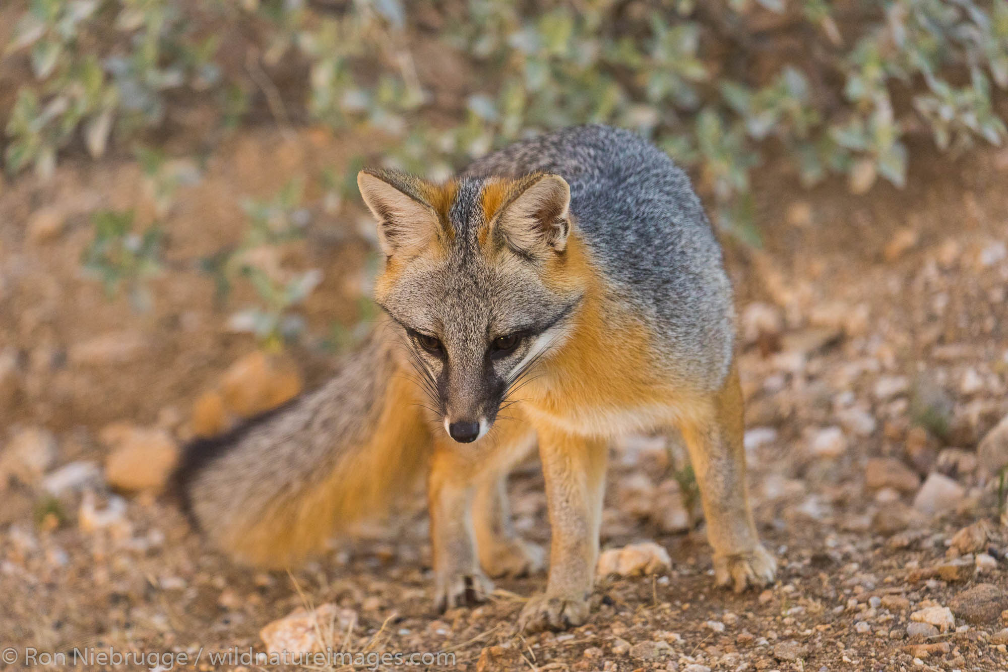
<svg viewBox="0 0 1008 672"><path fill-rule="evenodd" d="M506 244L537 255L566 249L571 233L571 187L558 175L540 175L504 205L497 227Z"/></svg>

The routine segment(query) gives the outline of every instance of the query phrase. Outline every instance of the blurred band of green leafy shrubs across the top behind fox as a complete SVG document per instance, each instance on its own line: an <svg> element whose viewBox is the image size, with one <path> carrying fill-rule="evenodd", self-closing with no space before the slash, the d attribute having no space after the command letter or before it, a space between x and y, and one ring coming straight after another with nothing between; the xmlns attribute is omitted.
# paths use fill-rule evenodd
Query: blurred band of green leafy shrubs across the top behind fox
<svg viewBox="0 0 1008 672"><path fill-rule="evenodd" d="M586 122L636 129L695 169L718 223L755 242L750 176L767 149L782 147L805 185L841 175L863 193L880 178L905 184L911 133L955 151L1008 133L994 101L1008 87L1008 0L27 7L8 51L27 53L37 81L11 111L11 173L51 173L78 137L97 156L113 130L162 126L167 94L181 89L217 87L221 124L241 123L248 70L283 123L380 130L398 138L389 164L434 178L528 132ZM215 11L254 28L245 70L226 71L214 31L194 29ZM422 82L420 43L421 58L440 49L444 63L464 65L463 76L448 75L461 96ZM281 66L302 76L291 91L306 93L280 96L284 85L265 71Z"/></svg>

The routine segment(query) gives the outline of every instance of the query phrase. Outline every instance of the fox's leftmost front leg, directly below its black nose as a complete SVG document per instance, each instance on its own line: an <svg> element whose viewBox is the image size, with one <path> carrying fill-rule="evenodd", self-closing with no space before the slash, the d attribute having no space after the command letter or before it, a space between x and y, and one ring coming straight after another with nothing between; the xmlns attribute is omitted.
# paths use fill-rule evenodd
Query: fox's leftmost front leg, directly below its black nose
<svg viewBox="0 0 1008 672"><path fill-rule="evenodd" d="M485 601L494 589L477 561L471 470L450 448L435 448L431 456L427 506L438 611Z"/></svg>

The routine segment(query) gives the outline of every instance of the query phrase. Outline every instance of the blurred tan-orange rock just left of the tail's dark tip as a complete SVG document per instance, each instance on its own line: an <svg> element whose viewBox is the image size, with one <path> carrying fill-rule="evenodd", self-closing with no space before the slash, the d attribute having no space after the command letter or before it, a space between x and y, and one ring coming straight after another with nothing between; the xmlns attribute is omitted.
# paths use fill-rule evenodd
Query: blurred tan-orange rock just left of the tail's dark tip
<svg viewBox="0 0 1008 672"><path fill-rule="evenodd" d="M116 423L103 429L101 438L112 446L105 475L116 489L159 491L178 461L178 446L164 430Z"/></svg>

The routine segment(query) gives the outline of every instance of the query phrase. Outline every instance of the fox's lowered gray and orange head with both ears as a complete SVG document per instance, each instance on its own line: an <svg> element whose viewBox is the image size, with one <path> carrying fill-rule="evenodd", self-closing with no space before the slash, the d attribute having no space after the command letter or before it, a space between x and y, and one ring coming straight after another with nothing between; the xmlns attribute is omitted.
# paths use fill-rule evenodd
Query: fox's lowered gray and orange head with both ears
<svg viewBox="0 0 1008 672"><path fill-rule="evenodd" d="M363 171L357 184L386 256L375 299L446 431L476 441L570 335L585 289L571 189L541 173L432 184Z"/></svg>

